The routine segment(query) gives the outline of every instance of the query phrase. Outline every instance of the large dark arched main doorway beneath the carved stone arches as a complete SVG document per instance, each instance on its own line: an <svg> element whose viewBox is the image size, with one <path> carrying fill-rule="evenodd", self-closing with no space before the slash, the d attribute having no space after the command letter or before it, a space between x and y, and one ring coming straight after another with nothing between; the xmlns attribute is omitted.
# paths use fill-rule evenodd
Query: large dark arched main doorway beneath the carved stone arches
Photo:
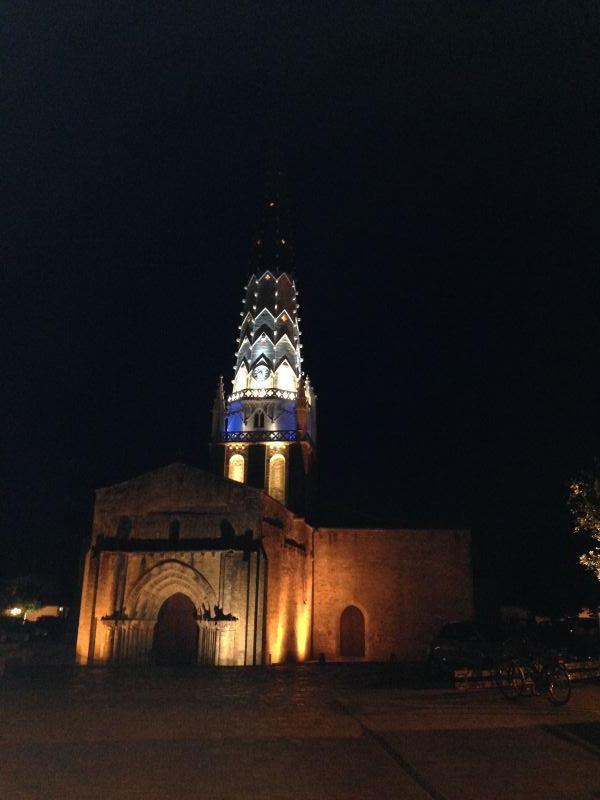
<svg viewBox="0 0 600 800"><path fill-rule="evenodd" d="M160 607L154 628L157 664L195 664L198 658L196 608L190 598L177 592Z"/></svg>

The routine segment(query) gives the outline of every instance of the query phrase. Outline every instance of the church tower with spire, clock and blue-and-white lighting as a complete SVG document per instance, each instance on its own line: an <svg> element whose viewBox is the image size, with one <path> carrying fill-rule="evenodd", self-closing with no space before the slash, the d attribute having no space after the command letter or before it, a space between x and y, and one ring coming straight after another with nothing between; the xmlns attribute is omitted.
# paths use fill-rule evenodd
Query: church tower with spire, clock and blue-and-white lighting
<svg viewBox="0 0 600 800"><path fill-rule="evenodd" d="M264 489L298 514L310 507L316 395L303 370L293 252L272 191L244 287L231 392L213 407L213 451L225 477Z"/></svg>

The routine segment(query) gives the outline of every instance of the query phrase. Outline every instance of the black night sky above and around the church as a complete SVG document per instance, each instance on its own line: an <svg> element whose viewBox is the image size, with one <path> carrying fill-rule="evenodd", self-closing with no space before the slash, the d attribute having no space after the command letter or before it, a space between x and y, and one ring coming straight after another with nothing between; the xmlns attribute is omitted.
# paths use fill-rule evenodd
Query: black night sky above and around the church
<svg viewBox="0 0 600 800"><path fill-rule="evenodd" d="M322 496L471 527L483 603L589 596L597 3L2 13L4 574L73 583L95 487L206 462L277 139Z"/></svg>

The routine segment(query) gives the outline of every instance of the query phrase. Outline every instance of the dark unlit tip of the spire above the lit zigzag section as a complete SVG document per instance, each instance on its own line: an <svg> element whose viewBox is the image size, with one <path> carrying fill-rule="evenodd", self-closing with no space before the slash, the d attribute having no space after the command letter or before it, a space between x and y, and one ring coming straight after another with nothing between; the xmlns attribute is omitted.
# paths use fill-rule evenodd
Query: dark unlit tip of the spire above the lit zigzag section
<svg viewBox="0 0 600 800"><path fill-rule="evenodd" d="M280 159L273 153L267 168L267 191L261 222L252 243L251 266L260 275L270 269L275 274L293 271L289 201Z"/></svg>

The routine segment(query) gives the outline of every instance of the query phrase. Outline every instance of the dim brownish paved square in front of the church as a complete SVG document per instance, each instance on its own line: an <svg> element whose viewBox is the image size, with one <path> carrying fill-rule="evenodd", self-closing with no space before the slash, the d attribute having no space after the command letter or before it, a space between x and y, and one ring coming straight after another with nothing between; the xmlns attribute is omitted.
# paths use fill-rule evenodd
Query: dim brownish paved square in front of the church
<svg viewBox="0 0 600 800"><path fill-rule="evenodd" d="M590 800L600 685L568 706L400 667L31 669L0 681L3 800Z"/></svg>

